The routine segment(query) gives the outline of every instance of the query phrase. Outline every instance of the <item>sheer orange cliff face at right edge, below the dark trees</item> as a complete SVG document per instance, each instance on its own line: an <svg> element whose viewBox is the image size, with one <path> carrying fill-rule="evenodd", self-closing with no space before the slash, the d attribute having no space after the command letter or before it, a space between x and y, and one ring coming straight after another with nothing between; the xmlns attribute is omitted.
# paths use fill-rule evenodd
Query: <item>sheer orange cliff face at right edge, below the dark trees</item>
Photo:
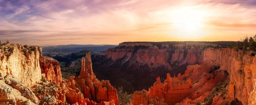
<svg viewBox="0 0 256 105"><path fill-rule="evenodd" d="M230 74L227 99L238 100L243 105L255 104L254 74L256 57L252 52L244 54L235 49L207 49L204 51L204 62L210 65L220 65L221 70Z"/></svg>

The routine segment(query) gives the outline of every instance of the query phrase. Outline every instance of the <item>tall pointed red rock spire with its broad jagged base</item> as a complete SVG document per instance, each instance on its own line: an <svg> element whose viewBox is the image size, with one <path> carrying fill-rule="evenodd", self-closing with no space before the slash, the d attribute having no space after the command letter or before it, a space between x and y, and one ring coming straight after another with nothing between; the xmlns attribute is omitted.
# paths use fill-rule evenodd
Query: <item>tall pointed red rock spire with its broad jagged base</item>
<svg viewBox="0 0 256 105"><path fill-rule="evenodd" d="M90 52L82 58L81 72L79 77L74 78L84 94L84 98L92 99L96 102L113 102L118 105L119 101L116 88L113 88L109 81L99 81L92 70Z"/></svg>

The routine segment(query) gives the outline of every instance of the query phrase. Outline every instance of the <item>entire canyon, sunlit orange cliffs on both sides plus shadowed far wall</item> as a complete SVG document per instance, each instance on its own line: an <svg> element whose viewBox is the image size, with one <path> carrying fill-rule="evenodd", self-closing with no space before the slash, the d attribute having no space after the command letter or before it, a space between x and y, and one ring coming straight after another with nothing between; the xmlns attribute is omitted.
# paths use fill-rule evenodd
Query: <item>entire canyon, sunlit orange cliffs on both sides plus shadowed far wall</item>
<svg viewBox="0 0 256 105"><path fill-rule="evenodd" d="M44 57L41 47L3 43L0 105L120 105L116 88L102 76L142 88L132 90L128 105L255 105L255 51L216 46L120 43L88 52L79 76L64 79L59 62Z"/></svg>

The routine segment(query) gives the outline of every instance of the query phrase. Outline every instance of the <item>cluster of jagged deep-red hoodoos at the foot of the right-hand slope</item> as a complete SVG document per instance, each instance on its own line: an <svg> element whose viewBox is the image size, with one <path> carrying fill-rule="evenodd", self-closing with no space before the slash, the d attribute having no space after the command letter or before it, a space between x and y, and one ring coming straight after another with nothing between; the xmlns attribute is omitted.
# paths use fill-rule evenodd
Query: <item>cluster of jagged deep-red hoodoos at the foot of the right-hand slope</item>
<svg viewBox="0 0 256 105"><path fill-rule="evenodd" d="M191 94L191 87L191 79L183 81L180 80L180 77L178 79L176 77L172 78L170 74L167 74L167 79L164 83L158 77L154 86L151 86L148 92L145 90L134 92L133 105L149 105L150 103L147 103L148 100L155 97L159 99L163 98L167 105L174 105Z"/></svg>

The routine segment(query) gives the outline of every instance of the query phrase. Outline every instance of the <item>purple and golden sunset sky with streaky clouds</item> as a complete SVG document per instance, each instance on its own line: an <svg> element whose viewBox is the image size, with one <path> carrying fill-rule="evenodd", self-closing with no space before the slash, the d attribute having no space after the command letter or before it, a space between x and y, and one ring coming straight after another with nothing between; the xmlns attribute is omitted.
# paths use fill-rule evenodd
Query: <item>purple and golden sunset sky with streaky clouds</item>
<svg viewBox="0 0 256 105"><path fill-rule="evenodd" d="M27 45L237 41L256 0L0 0L0 40Z"/></svg>

